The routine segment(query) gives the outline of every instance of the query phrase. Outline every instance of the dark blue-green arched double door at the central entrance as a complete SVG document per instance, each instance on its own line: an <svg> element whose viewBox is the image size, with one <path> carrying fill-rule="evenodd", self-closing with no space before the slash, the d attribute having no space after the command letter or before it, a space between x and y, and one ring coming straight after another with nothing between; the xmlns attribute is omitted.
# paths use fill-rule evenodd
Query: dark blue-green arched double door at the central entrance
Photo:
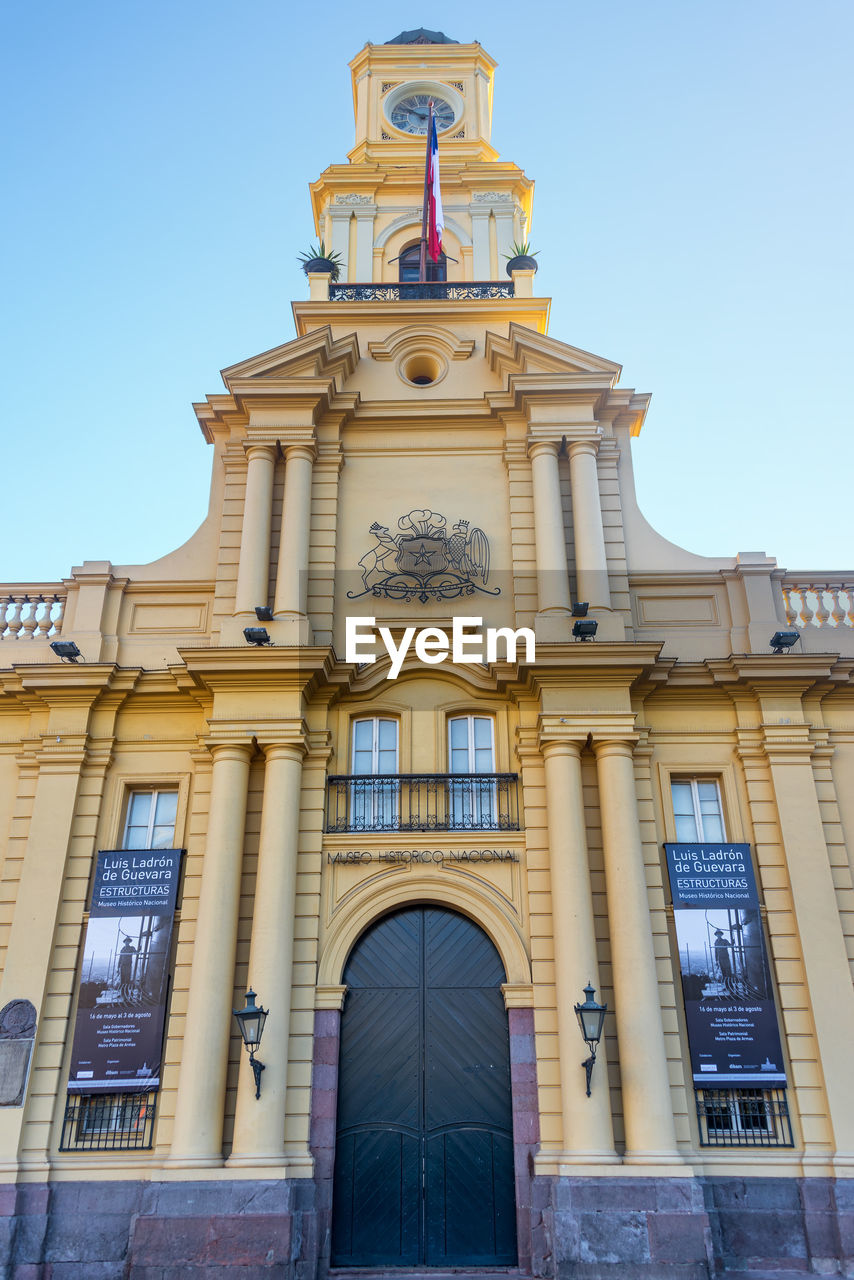
<svg viewBox="0 0 854 1280"><path fill-rule="evenodd" d="M516 1203L501 957L472 920L396 911L343 980L335 1266L511 1266Z"/></svg>

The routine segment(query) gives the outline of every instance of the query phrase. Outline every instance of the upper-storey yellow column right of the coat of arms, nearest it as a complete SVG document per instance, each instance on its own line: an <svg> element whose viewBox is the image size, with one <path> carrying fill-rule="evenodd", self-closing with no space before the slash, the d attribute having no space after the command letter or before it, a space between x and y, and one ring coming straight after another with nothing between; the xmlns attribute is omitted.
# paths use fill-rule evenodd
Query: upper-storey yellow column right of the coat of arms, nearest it
<svg viewBox="0 0 854 1280"><path fill-rule="evenodd" d="M556 440L529 445L534 485L534 536L536 539L536 634L544 640L570 637L570 577L566 564L563 503Z"/></svg>

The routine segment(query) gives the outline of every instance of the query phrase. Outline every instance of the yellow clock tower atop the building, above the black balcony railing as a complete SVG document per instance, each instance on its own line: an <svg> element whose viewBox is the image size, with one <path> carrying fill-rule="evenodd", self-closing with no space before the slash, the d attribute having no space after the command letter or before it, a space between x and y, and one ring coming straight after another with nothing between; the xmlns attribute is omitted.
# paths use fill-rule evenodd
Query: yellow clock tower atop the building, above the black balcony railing
<svg viewBox="0 0 854 1280"><path fill-rule="evenodd" d="M448 280L497 280L528 238L534 183L490 143L495 63L476 42L403 31L350 64L356 141L348 164L311 186L318 234L341 255L342 280L394 282L420 241L428 106L439 137Z"/></svg>

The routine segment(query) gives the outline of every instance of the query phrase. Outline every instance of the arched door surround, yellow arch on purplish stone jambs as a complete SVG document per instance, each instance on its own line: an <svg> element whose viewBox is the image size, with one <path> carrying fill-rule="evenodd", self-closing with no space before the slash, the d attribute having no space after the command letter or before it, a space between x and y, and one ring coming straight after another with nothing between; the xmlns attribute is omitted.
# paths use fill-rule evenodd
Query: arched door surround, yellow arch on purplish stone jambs
<svg viewBox="0 0 854 1280"><path fill-rule="evenodd" d="M371 924L401 908L424 905L444 906L474 920L492 940L504 966L507 982L502 991L510 1028L516 1238L519 1267L524 1275L530 1274L533 1157L539 1148L539 1106L531 969L524 941L493 900L488 887L481 887L469 877L465 882L448 883L429 872L405 872L397 883L394 881L397 877L391 884L378 887L371 878L338 908L318 964L310 1135L315 1160L318 1275L323 1277L329 1270L344 965L353 946Z"/></svg>

